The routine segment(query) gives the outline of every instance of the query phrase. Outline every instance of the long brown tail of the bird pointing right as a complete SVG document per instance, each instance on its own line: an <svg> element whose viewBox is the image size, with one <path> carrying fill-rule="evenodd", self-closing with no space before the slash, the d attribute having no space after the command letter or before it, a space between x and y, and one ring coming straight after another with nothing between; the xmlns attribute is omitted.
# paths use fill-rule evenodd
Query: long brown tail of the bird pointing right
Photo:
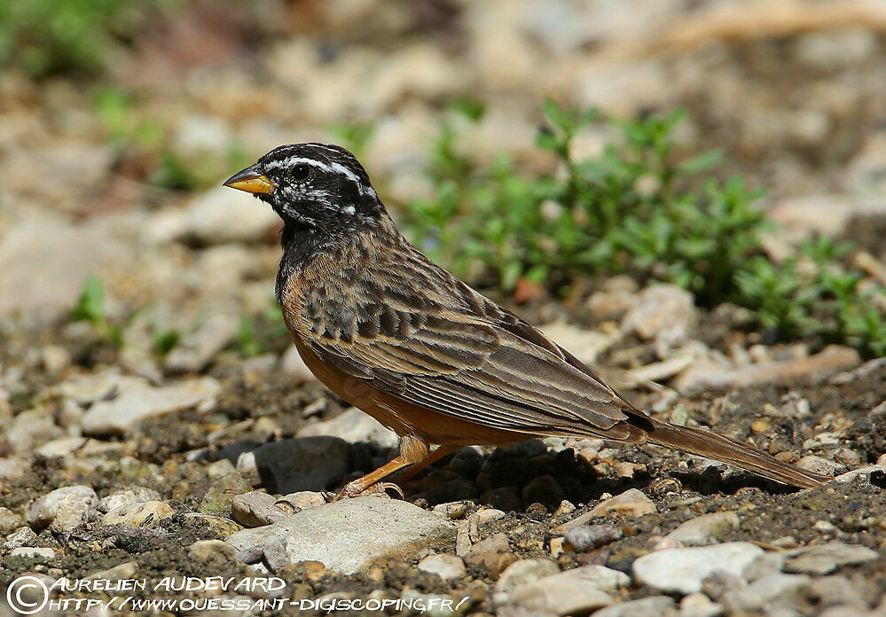
<svg viewBox="0 0 886 617"><path fill-rule="evenodd" d="M761 449L691 426L672 425L643 414L632 418L647 431L647 440L661 446L686 450L702 457L736 465L749 472L801 488L818 487L830 478L782 463ZM649 423L647 425L646 423Z"/></svg>

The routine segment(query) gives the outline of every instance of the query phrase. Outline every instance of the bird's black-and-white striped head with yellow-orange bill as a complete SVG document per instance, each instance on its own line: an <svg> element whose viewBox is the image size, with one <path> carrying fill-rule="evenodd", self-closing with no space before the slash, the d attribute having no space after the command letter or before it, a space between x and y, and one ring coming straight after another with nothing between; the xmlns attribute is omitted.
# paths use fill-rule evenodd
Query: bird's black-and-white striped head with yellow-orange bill
<svg viewBox="0 0 886 617"><path fill-rule="evenodd" d="M224 185L268 202L287 226L320 233L356 230L383 210L357 158L332 144L281 145Z"/></svg>

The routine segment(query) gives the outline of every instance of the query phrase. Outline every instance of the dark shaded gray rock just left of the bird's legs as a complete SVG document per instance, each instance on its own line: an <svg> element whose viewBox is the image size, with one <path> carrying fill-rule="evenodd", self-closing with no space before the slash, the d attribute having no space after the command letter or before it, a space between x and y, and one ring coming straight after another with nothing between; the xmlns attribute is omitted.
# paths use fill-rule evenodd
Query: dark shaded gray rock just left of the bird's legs
<svg viewBox="0 0 886 617"><path fill-rule="evenodd" d="M266 443L240 455L237 469L257 468L273 493L323 490L349 471L350 447L338 437L295 437Z"/></svg>

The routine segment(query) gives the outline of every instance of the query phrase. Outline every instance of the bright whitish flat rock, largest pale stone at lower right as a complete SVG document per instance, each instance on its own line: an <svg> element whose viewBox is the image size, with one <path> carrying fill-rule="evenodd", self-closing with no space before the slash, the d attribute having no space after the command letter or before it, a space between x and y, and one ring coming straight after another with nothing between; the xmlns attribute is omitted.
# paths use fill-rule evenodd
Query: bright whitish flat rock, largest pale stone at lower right
<svg viewBox="0 0 886 617"><path fill-rule="evenodd" d="M733 542L687 549L656 551L634 561L634 576L655 590L690 594L717 571L741 575L763 553L756 544Z"/></svg>

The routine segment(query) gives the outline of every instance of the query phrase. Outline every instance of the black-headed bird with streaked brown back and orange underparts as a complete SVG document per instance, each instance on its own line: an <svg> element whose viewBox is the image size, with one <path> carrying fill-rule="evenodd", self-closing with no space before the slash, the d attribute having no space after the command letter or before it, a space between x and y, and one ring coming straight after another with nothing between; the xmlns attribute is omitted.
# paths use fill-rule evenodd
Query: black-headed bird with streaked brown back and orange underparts
<svg viewBox="0 0 886 617"><path fill-rule="evenodd" d="M275 293L304 363L399 438L396 457L336 498L399 490L389 474L408 479L465 446L550 436L648 442L799 488L829 480L639 410L412 246L363 165L339 145L280 145L223 184L252 193L283 220Z"/></svg>

